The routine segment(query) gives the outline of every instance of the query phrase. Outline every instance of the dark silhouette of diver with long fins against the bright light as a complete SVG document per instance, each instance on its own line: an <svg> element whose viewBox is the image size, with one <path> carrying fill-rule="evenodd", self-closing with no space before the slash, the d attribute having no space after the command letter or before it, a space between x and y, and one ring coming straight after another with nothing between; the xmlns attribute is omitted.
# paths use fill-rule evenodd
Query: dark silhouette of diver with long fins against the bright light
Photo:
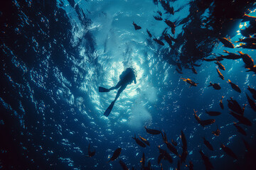
<svg viewBox="0 0 256 170"><path fill-rule="evenodd" d="M124 91L124 89L127 87L128 84L132 84L132 81L134 81L134 84L137 83L136 81L136 76L135 76L136 72L134 69L132 68L127 68L125 69L122 74L120 74L119 76L119 82L117 83L116 86L112 86L110 89L106 89L104 87L99 86L99 92L109 92L111 90L114 89L118 89L117 91L117 95L114 98L114 101L112 101L112 103L110 104L110 106L107 108L107 110L105 111L104 115L108 116L110 115L110 112L112 111L112 108L114 106L114 102L117 101L117 98L119 98L120 94L122 93L122 91Z"/></svg>

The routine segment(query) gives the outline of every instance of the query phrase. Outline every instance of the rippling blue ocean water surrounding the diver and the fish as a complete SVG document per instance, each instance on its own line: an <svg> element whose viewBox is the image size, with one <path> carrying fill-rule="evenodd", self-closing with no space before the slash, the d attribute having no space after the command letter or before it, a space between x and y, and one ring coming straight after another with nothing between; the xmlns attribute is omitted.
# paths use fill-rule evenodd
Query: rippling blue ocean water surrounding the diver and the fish
<svg viewBox="0 0 256 170"><path fill-rule="evenodd" d="M174 15L166 13L161 1L154 2L1 2L0 16L4 22L1 22L0 44L0 169L122 169L119 160L129 169L132 166L141 169L143 152L146 164L150 161L152 169L161 169L157 164L157 146L170 151L161 135L146 133L144 126L164 130L169 141L174 139L178 143L178 154L182 153L183 130L188 157L181 169L188 169L186 165L190 161L194 169L206 169L200 149L210 158L214 169L253 169L242 139L256 149L256 113L246 97L248 94L252 98L247 86L256 88L255 75L246 72L242 59L223 60L225 71L220 72L225 80L222 80L216 72L217 65L204 62L196 52L189 56L189 47L193 51L195 44L201 45L203 52L207 51L205 57L225 55L223 50L237 54L242 51L253 60L256 60L255 50L224 47L218 40L218 32L209 35L208 40L212 42L208 44L207 40L201 40L204 33L196 32L196 28L204 27L198 26L198 20L203 22L208 18L219 1L170 1ZM208 8L202 10L199 5L195 6L201 2L208 4ZM253 1L240 7L248 15L256 16ZM193 11L193 8L196 9ZM201 16L195 14L196 10ZM175 34L171 34L164 20L154 19L153 16L159 15L157 11L161 11L162 18L175 21ZM135 30L133 21L142 29ZM194 43L186 44L189 41L184 38L184 28L191 25ZM240 29L246 26L250 23L237 18L222 35L239 47L235 41L243 38ZM165 28L178 40L175 50L161 37ZM165 45L157 44L153 38L161 38ZM191 62L187 58L190 57L194 64L200 65L194 66L198 74L189 69ZM177 63L182 65L183 74L176 71ZM127 86L110 116L105 117L103 113L117 91L99 93L98 86L114 86L119 74L128 67L136 70L137 84ZM190 87L181 78L192 79L198 86ZM226 82L228 79L238 84L242 92L234 91ZM210 81L219 83L221 89L208 87ZM223 110L219 106L222 96ZM230 97L240 106L247 103L245 117L252 126L240 125L247 136L241 135L233 125L238 121L229 114L227 99ZM213 118L206 110L222 114L214 117L213 125L203 128L194 118L193 110L198 111L203 120ZM217 126L218 137L212 134ZM132 139L134 134L146 138L150 146L137 145ZM203 137L210 141L214 151L203 145ZM238 160L225 154L220 149L221 143L230 147ZM89 144L90 149L96 151L94 157L86 157ZM122 148L119 158L107 163L117 147ZM171 156L172 164L161 161L164 169L177 168L179 158L175 154Z"/></svg>

